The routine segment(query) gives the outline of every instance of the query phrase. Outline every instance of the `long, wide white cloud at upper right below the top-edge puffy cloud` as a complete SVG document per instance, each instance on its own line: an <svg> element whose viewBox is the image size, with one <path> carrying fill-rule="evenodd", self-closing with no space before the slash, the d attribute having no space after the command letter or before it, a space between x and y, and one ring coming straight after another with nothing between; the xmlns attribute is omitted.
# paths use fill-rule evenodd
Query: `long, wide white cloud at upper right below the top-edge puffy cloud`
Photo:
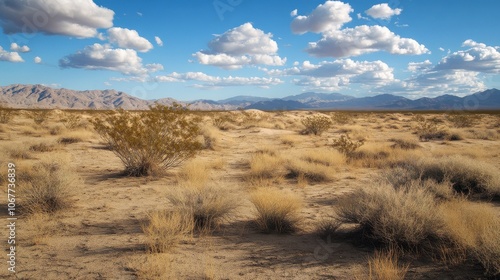
<svg viewBox="0 0 500 280"><path fill-rule="evenodd" d="M401 38L385 26L360 25L324 34L306 51L318 57L347 57L386 51L391 54L424 54L429 50L411 38Z"/></svg>

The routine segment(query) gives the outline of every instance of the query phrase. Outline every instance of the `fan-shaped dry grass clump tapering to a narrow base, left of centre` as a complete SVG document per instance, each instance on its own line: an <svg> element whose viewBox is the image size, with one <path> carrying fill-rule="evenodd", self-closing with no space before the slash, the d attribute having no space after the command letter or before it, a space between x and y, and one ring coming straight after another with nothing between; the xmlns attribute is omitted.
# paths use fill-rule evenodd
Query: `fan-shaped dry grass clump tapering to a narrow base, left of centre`
<svg viewBox="0 0 500 280"><path fill-rule="evenodd" d="M214 186L179 188L170 192L167 199L180 213L190 217L194 228L201 232L215 229L238 206L232 193Z"/></svg>

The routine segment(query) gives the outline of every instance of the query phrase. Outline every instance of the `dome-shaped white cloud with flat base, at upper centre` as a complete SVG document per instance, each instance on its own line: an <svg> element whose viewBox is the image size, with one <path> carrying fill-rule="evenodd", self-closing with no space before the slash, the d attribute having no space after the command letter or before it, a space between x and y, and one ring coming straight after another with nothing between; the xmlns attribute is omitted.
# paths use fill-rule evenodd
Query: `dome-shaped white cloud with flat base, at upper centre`
<svg viewBox="0 0 500 280"><path fill-rule="evenodd" d="M279 57L278 44L271 33L264 33L245 23L226 31L208 43L208 50L193 54L200 64L224 69L239 69L245 65L284 65L286 58Z"/></svg>

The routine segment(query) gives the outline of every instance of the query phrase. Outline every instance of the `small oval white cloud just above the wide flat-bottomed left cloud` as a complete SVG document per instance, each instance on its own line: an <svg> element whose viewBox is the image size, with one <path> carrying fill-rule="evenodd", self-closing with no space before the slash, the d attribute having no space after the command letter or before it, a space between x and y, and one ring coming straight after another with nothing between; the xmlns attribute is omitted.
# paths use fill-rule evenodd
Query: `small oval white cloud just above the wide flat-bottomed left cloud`
<svg viewBox="0 0 500 280"><path fill-rule="evenodd" d="M108 29L108 40L120 48L134 49L139 52L148 52L153 48L153 45L146 38L139 36L137 31L127 28Z"/></svg>

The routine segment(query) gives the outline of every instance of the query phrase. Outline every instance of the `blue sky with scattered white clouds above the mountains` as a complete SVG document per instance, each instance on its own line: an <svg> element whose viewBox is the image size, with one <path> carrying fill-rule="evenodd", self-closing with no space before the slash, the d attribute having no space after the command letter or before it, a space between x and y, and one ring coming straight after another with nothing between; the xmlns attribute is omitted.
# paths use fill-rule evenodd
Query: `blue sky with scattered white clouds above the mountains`
<svg viewBox="0 0 500 280"><path fill-rule="evenodd" d="M463 96L500 88L499 10L489 0L0 0L0 86L179 100Z"/></svg>

